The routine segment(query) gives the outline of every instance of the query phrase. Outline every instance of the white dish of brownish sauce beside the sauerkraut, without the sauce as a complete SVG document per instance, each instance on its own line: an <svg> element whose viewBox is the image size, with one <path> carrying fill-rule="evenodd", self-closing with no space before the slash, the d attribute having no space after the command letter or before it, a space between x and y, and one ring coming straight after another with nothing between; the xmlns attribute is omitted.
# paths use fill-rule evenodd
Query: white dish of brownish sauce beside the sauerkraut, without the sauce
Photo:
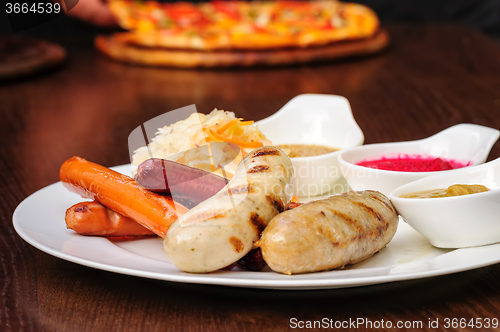
<svg viewBox="0 0 500 332"><path fill-rule="evenodd" d="M257 126L274 145L314 144L342 150L359 146L364 141L349 102L334 95L299 95L275 114L258 121ZM294 195L315 196L347 190L334 188L342 178L337 161L340 150L315 157L292 158Z"/></svg>

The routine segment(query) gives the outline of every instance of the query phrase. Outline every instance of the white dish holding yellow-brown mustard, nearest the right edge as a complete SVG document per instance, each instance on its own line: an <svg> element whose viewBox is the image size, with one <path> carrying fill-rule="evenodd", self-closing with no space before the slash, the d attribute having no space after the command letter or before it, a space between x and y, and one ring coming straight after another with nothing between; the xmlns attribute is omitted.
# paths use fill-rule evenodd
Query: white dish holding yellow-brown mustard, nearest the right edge
<svg viewBox="0 0 500 332"><path fill-rule="evenodd" d="M481 184L491 191L439 198L400 197L454 184ZM390 198L403 219L436 247L500 242L500 158L406 184L392 191Z"/></svg>

